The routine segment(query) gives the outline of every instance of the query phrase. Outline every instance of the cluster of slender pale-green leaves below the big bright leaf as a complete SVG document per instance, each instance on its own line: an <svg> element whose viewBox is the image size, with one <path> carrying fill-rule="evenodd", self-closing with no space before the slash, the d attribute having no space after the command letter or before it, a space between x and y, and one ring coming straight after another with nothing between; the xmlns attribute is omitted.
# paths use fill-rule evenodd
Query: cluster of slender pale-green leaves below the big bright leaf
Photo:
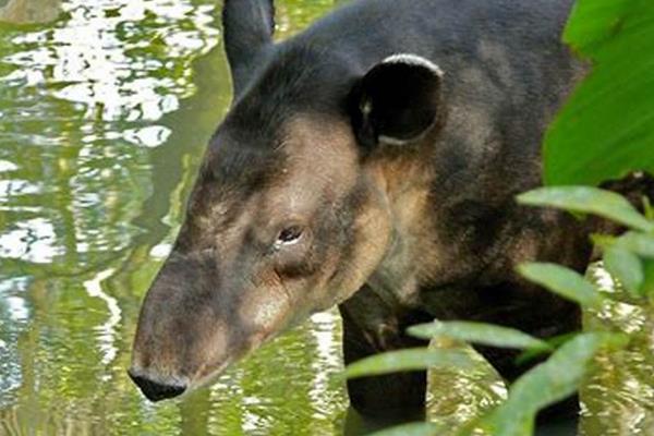
<svg viewBox="0 0 654 436"><path fill-rule="evenodd" d="M610 199L610 201L607 201ZM534 206L564 207L576 213L595 214L618 222L630 222L621 237L596 237L609 272L630 293L633 301L647 304L654 299L654 219L647 209L641 215L617 194L584 186L545 187L519 196L519 202ZM519 272L584 308L600 310L613 295L601 293L586 278L556 264L530 263ZM571 396L601 350L623 348L629 337L609 331L573 335L558 348L553 342L507 327L470 322L434 322L413 326L409 335L421 339L450 338L483 346L524 349L531 355L553 352L547 361L533 367L509 388L508 399L459 432L468 435L483 431L494 436L531 435L537 412ZM462 367L465 355L451 350L411 349L372 356L350 365L349 377L387 374L396 371L443 366ZM435 435L440 429L432 423L412 423L387 429L377 436Z"/></svg>

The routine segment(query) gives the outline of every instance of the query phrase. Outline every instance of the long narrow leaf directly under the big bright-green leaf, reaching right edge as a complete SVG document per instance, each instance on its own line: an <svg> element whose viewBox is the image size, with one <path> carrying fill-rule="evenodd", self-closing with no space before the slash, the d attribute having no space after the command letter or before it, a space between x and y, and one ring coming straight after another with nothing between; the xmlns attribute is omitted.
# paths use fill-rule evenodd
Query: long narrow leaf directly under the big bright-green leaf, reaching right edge
<svg viewBox="0 0 654 436"><path fill-rule="evenodd" d="M654 222L642 216L623 196L591 186L540 187L518 195L518 203L549 206L580 214L594 214L643 231Z"/></svg>

